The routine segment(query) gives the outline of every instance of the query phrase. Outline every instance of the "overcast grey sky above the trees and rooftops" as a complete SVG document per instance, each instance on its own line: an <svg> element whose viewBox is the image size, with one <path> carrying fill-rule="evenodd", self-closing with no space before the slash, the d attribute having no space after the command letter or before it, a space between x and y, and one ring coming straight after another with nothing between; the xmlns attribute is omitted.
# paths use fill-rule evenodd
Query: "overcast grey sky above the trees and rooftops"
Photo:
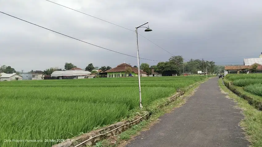
<svg viewBox="0 0 262 147"><path fill-rule="evenodd" d="M51 1L130 30L46 0L0 0L1 12L96 45L0 13L1 65L25 72L63 69L65 62L82 69L89 63L115 67L124 61L137 66L137 58L123 54L137 57L132 30L145 22L153 31L138 29L151 41L138 35L140 58L168 61L173 54L185 60L204 58L217 65L236 65L243 64L244 58L259 58L262 52L261 0ZM140 59L149 65L157 61Z"/></svg>

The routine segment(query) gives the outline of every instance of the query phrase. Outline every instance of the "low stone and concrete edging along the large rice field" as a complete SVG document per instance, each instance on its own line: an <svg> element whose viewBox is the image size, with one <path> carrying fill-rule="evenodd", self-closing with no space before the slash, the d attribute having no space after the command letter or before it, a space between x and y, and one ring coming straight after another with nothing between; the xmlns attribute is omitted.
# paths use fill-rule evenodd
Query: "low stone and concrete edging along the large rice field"
<svg viewBox="0 0 262 147"><path fill-rule="evenodd" d="M185 91L189 90L194 85L201 84L201 83L203 83L203 82L205 82L207 80L208 79L205 79L204 81L196 82L193 85L190 85L188 88L186 88ZM177 92L173 96L169 97L168 98L169 99L168 103L171 103L171 102L175 101L176 98L180 97L181 95L183 95L185 93L185 91ZM164 105L161 105L158 108L161 108L163 106ZM147 112L145 112L145 113L147 113ZM61 142L61 143L56 144L56 145L52 145L52 147L74 147L74 146L76 146L76 145L78 145L78 144L80 144L80 143L82 143L82 142L84 142L84 141L86 141L88 139L90 139L90 140L86 141L85 143L83 143L81 145L79 145L78 147L92 146L92 145L95 145L96 142L98 142L98 141L100 141L102 139L108 138L108 137L113 136L113 135L115 136L117 134L120 134L121 132L124 132L125 130L129 129L132 125L136 125L136 124L140 123L143 120L149 119L150 115L151 114L148 113L147 115L145 115L144 117L141 117L141 118L139 116L136 116L132 121L117 122L117 123L115 123L113 125L109 125L109 126L97 129L97 130L93 130L93 131L91 131L89 133L84 133L81 136L73 137L71 139L67 139L64 142ZM137 121L135 121L135 120L137 120ZM133 122L133 123L130 123L130 122ZM111 130L113 130L113 131L110 132ZM106 133L106 132L110 132L110 133L101 135L101 134ZM98 135L100 135L100 136L98 136Z"/></svg>

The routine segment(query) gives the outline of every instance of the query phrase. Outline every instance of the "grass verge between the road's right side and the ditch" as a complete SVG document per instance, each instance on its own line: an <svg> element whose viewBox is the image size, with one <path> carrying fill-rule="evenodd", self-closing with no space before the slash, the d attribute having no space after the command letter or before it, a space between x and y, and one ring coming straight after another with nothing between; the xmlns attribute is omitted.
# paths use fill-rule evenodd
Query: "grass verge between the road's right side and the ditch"
<svg viewBox="0 0 262 147"><path fill-rule="evenodd" d="M244 129L246 138L252 147L262 146L262 112L248 104L248 101L235 95L231 90L227 89L219 79L219 86L229 98L232 98L240 109L243 110L244 119L240 122L240 126Z"/></svg>

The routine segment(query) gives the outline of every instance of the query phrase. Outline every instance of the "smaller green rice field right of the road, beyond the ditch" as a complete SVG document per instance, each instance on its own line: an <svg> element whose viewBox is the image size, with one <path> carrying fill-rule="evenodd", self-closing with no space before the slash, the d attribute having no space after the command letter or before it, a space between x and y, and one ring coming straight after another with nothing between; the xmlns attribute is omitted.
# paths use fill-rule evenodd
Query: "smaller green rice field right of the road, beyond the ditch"
<svg viewBox="0 0 262 147"><path fill-rule="evenodd" d="M262 99L262 74L228 74L225 78L233 81L235 86L243 87L245 91L261 96Z"/></svg>

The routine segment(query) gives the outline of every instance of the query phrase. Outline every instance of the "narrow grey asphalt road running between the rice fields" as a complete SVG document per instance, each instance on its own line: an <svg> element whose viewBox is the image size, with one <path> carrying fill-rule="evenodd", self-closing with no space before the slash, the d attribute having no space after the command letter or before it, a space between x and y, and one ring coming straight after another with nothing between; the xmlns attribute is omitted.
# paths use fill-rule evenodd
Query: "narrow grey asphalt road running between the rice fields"
<svg viewBox="0 0 262 147"><path fill-rule="evenodd" d="M244 118L235 102L226 98L212 78L199 86L186 103L160 117L127 147L248 146L239 122Z"/></svg>

